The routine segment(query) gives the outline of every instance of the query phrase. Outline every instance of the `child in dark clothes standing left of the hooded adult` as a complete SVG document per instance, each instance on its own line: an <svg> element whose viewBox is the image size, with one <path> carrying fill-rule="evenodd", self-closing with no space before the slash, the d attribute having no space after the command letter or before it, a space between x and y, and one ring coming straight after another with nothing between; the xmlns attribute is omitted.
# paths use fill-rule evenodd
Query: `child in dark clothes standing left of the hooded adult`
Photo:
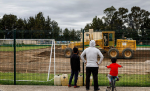
<svg viewBox="0 0 150 91"><path fill-rule="evenodd" d="M77 79L78 79L78 74L80 72L80 57L77 54L78 54L78 48L74 47L73 48L73 55L70 58L71 76L69 79L68 87L71 87L71 82L72 82L72 78L74 75L75 75L74 88L79 87L79 86L77 86Z"/></svg>

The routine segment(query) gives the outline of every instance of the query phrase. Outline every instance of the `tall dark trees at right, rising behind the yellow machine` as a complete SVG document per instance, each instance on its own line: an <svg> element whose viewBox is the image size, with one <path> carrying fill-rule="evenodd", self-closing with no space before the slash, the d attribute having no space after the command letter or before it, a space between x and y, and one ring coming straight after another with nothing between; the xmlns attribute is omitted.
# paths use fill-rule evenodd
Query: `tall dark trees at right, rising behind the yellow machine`
<svg viewBox="0 0 150 91"><path fill-rule="evenodd" d="M132 38L139 42L147 43L150 40L150 12L133 6L131 12L124 7L108 7L104 10L101 19L95 16L91 23L86 24L84 30L94 29L94 31L115 31L115 39L123 37ZM147 41L145 41L147 40Z"/></svg>

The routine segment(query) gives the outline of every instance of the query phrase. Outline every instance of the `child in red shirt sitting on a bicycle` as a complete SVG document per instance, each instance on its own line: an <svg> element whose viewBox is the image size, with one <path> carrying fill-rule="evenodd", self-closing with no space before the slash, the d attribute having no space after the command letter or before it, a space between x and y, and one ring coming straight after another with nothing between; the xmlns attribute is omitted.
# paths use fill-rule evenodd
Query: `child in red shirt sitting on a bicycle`
<svg viewBox="0 0 150 91"><path fill-rule="evenodd" d="M110 73L107 76L108 80L109 80L109 84L111 84L111 76L116 76L117 81L119 81L119 77L117 76L118 75L118 67L122 67L122 66L117 64L116 61L117 61L116 58L112 58L111 59L112 64L107 66L107 68L110 68Z"/></svg>

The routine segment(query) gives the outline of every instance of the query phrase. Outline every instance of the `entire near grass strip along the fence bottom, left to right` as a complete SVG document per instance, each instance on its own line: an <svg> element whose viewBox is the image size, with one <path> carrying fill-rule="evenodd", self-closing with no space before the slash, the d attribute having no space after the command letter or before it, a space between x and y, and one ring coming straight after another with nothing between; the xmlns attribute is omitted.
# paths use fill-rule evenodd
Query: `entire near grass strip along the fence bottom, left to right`
<svg viewBox="0 0 150 91"><path fill-rule="evenodd" d="M82 74L81 74L82 75ZM116 82L116 86L138 86L138 87L149 87L150 86L150 75L138 75L138 74L119 74L120 80ZM50 79L54 78L53 74L50 74ZM68 74L70 78L70 74ZM13 73L2 73L0 72L0 84L3 85L13 85L14 74ZM34 81L17 81L17 85L51 85L54 86L54 79L52 81L47 80L47 73L17 73L16 80L34 80ZM68 79L69 80L69 79ZM44 81L44 82L38 82ZM72 85L74 85L74 79L72 80ZM94 85L92 83L92 85ZM106 74L98 75L98 85L108 86L109 81Z"/></svg>

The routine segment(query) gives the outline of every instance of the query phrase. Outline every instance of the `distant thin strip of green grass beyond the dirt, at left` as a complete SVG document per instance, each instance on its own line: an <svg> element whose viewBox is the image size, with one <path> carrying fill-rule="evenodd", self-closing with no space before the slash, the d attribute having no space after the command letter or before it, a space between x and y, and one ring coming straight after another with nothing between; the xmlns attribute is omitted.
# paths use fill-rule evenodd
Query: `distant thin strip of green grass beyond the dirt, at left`
<svg viewBox="0 0 150 91"><path fill-rule="evenodd" d="M49 46L23 46L23 47L16 47L16 51L34 50L47 47ZM0 51L14 51L14 47L0 47Z"/></svg>

